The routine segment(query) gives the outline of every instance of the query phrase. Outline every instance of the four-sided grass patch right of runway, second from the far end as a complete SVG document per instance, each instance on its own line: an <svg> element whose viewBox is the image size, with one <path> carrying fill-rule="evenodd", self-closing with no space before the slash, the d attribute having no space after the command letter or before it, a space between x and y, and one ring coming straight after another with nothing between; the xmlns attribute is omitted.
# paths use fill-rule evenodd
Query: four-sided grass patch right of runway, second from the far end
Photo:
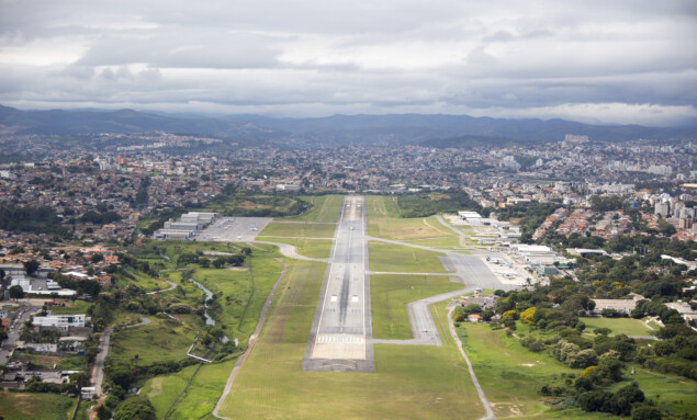
<svg viewBox="0 0 697 420"><path fill-rule="evenodd" d="M440 263L440 252L380 241L368 242L372 271L397 273L448 273Z"/></svg>

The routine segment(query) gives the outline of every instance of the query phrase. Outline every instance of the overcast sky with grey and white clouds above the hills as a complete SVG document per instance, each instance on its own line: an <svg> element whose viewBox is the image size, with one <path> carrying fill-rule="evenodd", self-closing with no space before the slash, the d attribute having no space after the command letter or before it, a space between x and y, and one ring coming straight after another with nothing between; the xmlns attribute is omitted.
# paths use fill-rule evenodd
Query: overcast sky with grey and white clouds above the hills
<svg viewBox="0 0 697 420"><path fill-rule="evenodd" d="M697 122L694 0L0 0L0 104Z"/></svg>

